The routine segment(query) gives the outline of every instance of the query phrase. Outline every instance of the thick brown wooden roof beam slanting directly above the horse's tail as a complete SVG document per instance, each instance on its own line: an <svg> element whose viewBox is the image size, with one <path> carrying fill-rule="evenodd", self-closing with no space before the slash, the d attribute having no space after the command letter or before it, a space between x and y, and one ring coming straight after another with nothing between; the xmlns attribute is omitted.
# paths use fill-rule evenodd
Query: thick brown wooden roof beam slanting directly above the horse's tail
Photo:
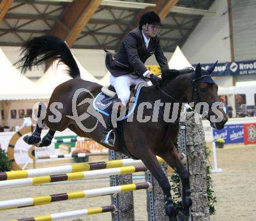
<svg viewBox="0 0 256 221"><path fill-rule="evenodd" d="M62 22L69 28L69 31L59 23L56 23L52 28L51 34L62 38L71 47L101 2L102 0L83 0L69 3L61 17Z"/></svg>

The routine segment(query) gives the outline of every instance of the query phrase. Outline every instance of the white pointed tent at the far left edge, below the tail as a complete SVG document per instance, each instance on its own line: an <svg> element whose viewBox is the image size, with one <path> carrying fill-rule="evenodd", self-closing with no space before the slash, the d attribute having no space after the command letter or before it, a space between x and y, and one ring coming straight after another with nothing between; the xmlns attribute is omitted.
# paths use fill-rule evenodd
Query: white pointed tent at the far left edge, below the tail
<svg viewBox="0 0 256 221"><path fill-rule="evenodd" d="M24 77L10 63L0 48L0 100L47 99L49 94L40 89L30 79Z"/></svg>

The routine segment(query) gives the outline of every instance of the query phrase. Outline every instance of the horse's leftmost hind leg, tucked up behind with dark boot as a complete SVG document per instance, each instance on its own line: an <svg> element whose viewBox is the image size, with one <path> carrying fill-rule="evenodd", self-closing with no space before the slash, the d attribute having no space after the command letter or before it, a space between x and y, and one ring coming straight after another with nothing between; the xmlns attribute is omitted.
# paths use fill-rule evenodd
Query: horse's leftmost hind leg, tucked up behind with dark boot
<svg viewBox="0 0 256 221"><path fill-rule="evenodd" d="M35 131L32 135L27 135L23 137L24 142L29 145L38 144L41 141L41 132L42 132L42 124L44 122L46 113L46 106L44 103L40 103L38 106L38 113L37 113L37 126L35 127Z"/></svg>

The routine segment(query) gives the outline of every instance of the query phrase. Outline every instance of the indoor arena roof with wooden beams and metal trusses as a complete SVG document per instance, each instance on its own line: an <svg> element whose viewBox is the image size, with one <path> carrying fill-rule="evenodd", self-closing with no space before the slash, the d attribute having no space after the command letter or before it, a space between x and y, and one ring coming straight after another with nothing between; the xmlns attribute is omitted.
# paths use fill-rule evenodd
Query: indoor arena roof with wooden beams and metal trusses
<svg viewBox="0 0 256 221"><path fill-rule="evenodd" d="M28 39L52 34L71 48L117 50L122 38L138 26L140 16L154 10L165 52L189 38L214 0L15 0L0 2L0 46L20 46Z"/></svg>

